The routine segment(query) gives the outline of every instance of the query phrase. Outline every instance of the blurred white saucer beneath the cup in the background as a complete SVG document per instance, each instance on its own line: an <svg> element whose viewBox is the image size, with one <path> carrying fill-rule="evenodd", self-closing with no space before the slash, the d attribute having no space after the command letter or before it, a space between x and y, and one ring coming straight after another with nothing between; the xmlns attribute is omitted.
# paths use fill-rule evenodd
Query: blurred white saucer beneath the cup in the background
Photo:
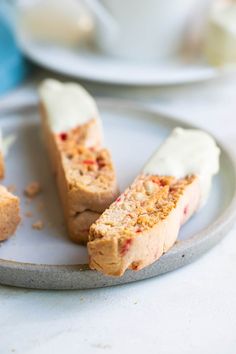
<svg viewBox="0 0 236 354"><path fill-rule="evenodd" d="M217 78L225 69L211 67L201 59L192 62L176 57L156 64L134 63L113 58L99 52L93 46L63 47L36 41L18 33L19 45L24 54L38 65L93 82L164 86L206 81Z"/></svg>

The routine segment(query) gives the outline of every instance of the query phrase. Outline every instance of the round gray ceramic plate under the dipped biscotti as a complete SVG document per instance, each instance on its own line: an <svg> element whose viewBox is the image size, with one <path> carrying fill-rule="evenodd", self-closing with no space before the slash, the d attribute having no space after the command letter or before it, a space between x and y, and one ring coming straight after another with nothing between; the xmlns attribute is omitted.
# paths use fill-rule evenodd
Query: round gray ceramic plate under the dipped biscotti
<svg viewBox="0 0 236 354"><path fill-rule="evenodd" d="M163 117L137 104L98 101L104 122L106 145L117 168L121 190L137 175L146 159L176 126L190 127ZM84 289L124 284L174 270L202 255L220 241L236 214L236 165L222 144L220 173L215 177L207 205L181 230L179 242L153 265L139 272L127 271L121 278L103 276L87 265L83 246L66 237L60 203L40 135L36 107L11 108L1 112L4 134L17 141L7 157L5 185L16 185L21 197L22 224L0 247L2 284L43 289ZM29 202L23 196L28 182L37 180L43 193ZM27 217L25 213L31 212ZM32 229L42 220L43 230Z"/></svg>

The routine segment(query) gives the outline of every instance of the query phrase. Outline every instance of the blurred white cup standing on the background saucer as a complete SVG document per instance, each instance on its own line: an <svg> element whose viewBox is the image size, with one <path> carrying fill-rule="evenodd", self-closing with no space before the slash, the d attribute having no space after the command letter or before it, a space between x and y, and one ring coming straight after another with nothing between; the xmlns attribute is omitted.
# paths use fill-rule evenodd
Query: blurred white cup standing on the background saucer
<svg viewBox="0 0 236 354"><path fill-rule="evenodd" d="M131 60L175 55L196 6L209 0L85 0L95 18L95 40L105 53Z"/></svg>

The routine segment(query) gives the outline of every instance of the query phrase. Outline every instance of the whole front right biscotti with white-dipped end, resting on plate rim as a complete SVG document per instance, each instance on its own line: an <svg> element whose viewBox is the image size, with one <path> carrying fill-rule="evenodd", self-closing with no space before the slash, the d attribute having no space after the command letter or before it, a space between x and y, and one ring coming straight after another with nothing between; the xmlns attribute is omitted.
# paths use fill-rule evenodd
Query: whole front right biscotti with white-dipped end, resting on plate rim
<svg viewBox="0 0 236 354"><path fill-rule="evenodd" d="M90 267L121 276L156 261L207 199L219 149L199 130L177 128L140 176L91 226Z"/></svg>

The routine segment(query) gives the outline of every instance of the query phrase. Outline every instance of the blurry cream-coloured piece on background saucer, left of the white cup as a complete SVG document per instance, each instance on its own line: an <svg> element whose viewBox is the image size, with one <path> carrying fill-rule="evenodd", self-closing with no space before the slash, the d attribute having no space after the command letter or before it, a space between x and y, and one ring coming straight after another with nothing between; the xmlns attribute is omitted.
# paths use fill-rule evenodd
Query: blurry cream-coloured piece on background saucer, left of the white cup
<svg viewBox="0 0 236 354"><path fill-rule="evenodd" d="M93 21L81 1L41 0L26 5L18 6L18 23L28 36L64 45L90 39Z"/></svg>

